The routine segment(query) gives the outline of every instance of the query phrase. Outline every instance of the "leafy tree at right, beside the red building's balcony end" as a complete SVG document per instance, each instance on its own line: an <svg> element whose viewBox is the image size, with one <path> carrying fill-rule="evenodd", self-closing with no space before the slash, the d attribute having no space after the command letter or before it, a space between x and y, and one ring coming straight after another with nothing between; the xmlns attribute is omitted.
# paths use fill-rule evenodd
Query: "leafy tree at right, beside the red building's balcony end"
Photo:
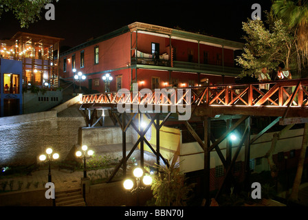
<svg viewBox="0 0 308 220"><path fill-rule="evenodd" d="M267 28L268 26L268 28ZM294 31L281 19L267 14L267 23L256 19L243 22L246 43L236 62L243 67L241 77L258 76L263 67L276 69L280 63L287 69L296 69L296 40Z"/></svg>

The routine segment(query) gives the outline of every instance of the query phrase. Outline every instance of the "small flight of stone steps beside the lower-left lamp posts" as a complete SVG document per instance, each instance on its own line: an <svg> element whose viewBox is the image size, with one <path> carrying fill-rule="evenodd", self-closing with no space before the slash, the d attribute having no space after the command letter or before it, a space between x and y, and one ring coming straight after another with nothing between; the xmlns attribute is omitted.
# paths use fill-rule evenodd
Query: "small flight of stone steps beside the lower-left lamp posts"
<svg viewBox="0 0 308 220"><path fill-rule="evenodd" d="M81 188L56 192L56 206L86 206Z"/></svg>

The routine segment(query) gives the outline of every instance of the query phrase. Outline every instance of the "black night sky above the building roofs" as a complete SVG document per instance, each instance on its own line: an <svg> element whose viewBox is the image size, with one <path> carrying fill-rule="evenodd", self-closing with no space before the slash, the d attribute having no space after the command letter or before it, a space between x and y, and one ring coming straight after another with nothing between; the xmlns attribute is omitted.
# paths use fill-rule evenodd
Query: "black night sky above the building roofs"
<svg viewBox="0 0 308 220"><path fill-rule="evenodd" d="M59 0L54 1L54 21L45 20L43 9L42 20L28 29L20 28L12 13L3 14L0 39L21 31L61 37L65 39L61 45L72 47L139 21L241 41L242 22L251 17L253 3L259 3L262 11L271 5L270 0Z"/></svg>

